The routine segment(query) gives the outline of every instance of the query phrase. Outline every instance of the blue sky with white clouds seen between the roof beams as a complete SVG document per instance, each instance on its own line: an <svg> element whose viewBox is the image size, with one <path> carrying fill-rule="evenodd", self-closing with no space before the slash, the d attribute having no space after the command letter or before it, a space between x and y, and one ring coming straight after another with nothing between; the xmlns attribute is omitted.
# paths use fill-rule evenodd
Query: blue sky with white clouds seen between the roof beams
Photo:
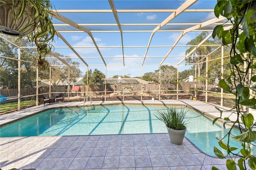
<svg viewBox="0 0 256 170"><path fill-rule="evenodd" d="M103 1L70 1L70 0L53 0L51 1L56 10L110 10L108 0ZM122 9L176 9L184 1L175 1L175 0L165 0L165 1L153 1L153 0L142 0L142 1L124 1L124 0L114 0L114 4L117 10ZM188 9L214 9L216 1L210 0L201 0L196 2L193 6ZM77 24L116 24L116 20L112 13L60 13L62 16L76 22ZM118 13L118 19L121 24L160 24L164 21L171 12L120 12ZM170 23L189 23L182 26L177 25L166 25L160 30L184 30L190 28L194 25L192 23L202 23L209 19L215 18L213 12L200 12L192 13L186 12L180 14ZM63 24L63 22L54 19L54 24ZM92 31L92 36L96 41L102 56L107 64L107 77L112 77L113 75L130 75L132 77L141 76L146 72L154 72L154 70L159 68L159 63L162 61L164 56L169 51L170 47L152 47L152 46L161 46L161 45L173 45L181 32L156 32L150 43L150 48L148 49L147 56L142 67L143 57L146 53L146 47L127 47L127 46L147 46L150 40L150 35L152 32L131 32L131 31L140 31L140 30L154 30L156 25L147 25L147 26L121 26L123 31L123 45L124 47L124 58L125 58L125 68L123 67L122 59L122 42L121 34L118 31L118 26L84 26L86 29ZM57 31L65 30L77 30L71 26L55 26ZM112 32L95 32L99 30L108 30ZM185 34L182 39L178 42L177 45L186 45L187 42L198 36L201 32L188 32ZM105 74L105 66L103 61L92 42L92 39L87 33L84 32L72 32L64 33L61 32L61 35L72 45L81 57L90 57L84 59L88 63L89 69L98 69ZM76 54L68 48L58 48L58 47L67 47L67 45L60 39L55 38L54 52L60 53L64 56L77 57ZM79 48L78 48L79 47ZM87 48L82 48L87 47ZM89 48L90 47L90 48ZM188 47L175 47L172 52L168 55L164 61L165 64L178 63L182 57L173 57L173 56L184 56L185 51ZM113 58L109 58L113 57ZM73 59L73 61L78 61L80 64L83 64L80 59ZM158 65L152 65L152 64ZM119 65L115 65L119 64ZM174 65L176 67L176 65ZM189 69L190 66L180 65L179 71ZM86 66L80 66L83 74L87 70Z"/></svg>

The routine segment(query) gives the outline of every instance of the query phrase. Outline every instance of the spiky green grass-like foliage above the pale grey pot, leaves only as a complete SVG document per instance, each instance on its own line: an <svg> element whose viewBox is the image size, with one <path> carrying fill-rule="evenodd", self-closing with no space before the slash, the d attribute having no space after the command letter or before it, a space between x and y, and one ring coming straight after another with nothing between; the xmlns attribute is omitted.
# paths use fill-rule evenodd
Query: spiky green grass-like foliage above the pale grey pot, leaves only
<svg viewBox="0 0 256 170"><path fill-rule="evenodd" d="M155 116L162 122L166 124L168 128L174 130L184 130L188 124L188 119L186 119L185 107L167 107L165 110L156 111Z"/></svg>

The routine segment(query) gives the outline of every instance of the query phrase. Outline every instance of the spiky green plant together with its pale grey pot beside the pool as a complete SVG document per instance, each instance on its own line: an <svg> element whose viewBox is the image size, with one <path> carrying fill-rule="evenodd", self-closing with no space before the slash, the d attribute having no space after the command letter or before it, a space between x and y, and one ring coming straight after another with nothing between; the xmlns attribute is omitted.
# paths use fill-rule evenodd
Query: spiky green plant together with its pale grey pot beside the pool
<svg viewBox="0 0 256 170"><path fill-rule="evenodd" d="M170 141L173 144L182 144L188 119L186 119L185 107L167 107L163 111L157 111L155 115L160 121L166 124L166 128L169 134Z"/></svg>

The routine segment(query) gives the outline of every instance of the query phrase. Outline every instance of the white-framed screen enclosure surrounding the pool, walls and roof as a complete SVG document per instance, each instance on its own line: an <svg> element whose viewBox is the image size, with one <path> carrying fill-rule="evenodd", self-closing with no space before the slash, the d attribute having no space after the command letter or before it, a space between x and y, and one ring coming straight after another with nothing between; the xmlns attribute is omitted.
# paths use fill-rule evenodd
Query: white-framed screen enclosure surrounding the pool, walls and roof
<svg viewBox="0 0 256 170"><path fill-rule="evenodd" d="M34 43L0 34L1 105L16 102L20 109L25 101L22 106L38 105L38 95L60 94L65 101L197 95L227 104L218 81L229 74L229 49L212 32L230 23L215 17L216 2L52 0L56 33L46 70L36 67Z"/></svg>

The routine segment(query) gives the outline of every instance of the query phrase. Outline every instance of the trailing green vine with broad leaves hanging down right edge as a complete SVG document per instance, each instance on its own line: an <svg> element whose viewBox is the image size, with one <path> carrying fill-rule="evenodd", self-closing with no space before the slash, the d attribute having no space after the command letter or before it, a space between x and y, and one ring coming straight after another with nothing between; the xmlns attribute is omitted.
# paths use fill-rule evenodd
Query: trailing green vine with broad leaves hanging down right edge
<svg viewBox="0 0 256 170"><path fill-rule="evenodd" d="M231 123L231 129L224 138L218 139L221 148L226 150L222 153L214 146L214 153L218 158L226 158L228 170L249 169L256 170L256 150L251 142L256 140L256 122L250 109L256 109L256 1L254 0L218 0L214 8L216 17L224 16L228 22L214 28L212 37L218 36L222 43L230 47L230 70L231 74L220 80L222 89L235 95L235 106L232 111L236 113L236 120L225 117L225 121ZM228 24L228 23L231 23ZM246 66L246 67L244 67ZM244 109L246 107L246 109ZM246 110L246 111L244 111ZM220 110L220 117L214 119L213 124L221 119L223 111ZM233 128L239 130L239 134L232 135ZM230 146L230 139L238 140L242 149ZM212 167L212 170L218 169Z"/></svg>

